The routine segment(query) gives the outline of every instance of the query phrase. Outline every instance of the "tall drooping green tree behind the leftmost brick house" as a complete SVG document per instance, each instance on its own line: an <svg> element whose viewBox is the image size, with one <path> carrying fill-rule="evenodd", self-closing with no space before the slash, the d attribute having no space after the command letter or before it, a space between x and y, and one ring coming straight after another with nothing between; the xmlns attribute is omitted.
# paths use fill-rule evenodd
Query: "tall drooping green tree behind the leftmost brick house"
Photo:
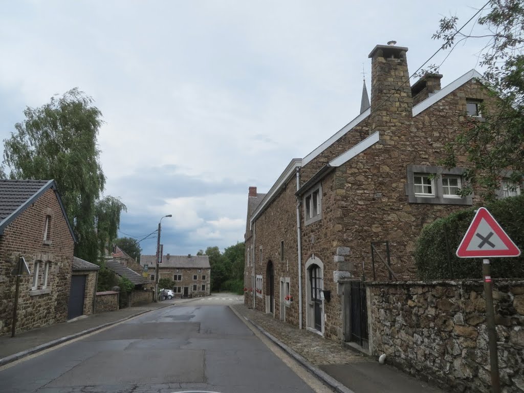
<svg viewBox="0 0 524 393"><path fill-rule="evenodd" d="M4 140L2 171L12 179L54 179L78 238L75 256L96 262L106 242L116 238L125 205L106 197L97 145L102 113L78 89L27 107L25 119Z"/></svg>

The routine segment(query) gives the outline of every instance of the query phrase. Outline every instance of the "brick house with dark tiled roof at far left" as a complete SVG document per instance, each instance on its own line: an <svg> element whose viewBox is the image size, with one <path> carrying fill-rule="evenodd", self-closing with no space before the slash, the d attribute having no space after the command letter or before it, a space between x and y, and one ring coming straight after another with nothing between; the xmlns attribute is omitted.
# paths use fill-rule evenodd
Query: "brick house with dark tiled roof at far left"
<svg viewBox="0 0 524 393"><path fill-rule="evenodd" d="M0 334L13 323L17 261L21 276L17 332L68 318L75 237L53 180L0 180Z"/></svg>

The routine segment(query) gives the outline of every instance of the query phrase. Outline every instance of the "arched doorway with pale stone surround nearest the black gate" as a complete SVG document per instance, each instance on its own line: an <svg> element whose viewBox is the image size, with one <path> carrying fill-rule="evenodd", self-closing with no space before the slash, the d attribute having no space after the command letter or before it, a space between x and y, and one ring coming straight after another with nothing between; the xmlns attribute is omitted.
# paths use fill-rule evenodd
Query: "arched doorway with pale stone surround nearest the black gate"
<svg viewBox="0 0 524 393"><path fill-rule="evenodd" d="M324 289L324 264L314 255L305 264L307 271L306 326L309 330L324 333L324 301L320 292Z"/></svg>

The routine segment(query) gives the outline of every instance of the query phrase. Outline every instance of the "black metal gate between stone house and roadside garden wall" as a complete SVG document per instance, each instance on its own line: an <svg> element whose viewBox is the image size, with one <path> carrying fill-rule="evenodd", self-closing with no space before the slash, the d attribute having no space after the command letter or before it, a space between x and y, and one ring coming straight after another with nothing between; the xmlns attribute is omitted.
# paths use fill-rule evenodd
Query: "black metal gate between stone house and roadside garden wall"
<svg viewBox="0 0 524 393"><path fill-rule="evenodd" d="M366 285L356 280L351 281L350 289L350 341L363 348L369 347Z"/></svg>

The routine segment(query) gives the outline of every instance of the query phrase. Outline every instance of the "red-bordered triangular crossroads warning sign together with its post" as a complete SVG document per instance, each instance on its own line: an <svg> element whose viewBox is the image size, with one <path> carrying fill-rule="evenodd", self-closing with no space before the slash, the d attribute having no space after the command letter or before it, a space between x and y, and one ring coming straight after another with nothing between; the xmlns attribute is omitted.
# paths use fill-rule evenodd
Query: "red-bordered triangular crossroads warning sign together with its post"
<svg viewBox="0 0 524 393"><path fill-rule="evenodd" d="M459 258L483 258L482 276L484 279L484 297L486 299L486 324L489 340L492 392L500 393L497 332L495 330L492 278L488 258L518 257L520 249L511 241L487 209L479 208L475 213L475 217L473 217L470 227L467 228L459 248L457 248L456 255Z"/></svg>

